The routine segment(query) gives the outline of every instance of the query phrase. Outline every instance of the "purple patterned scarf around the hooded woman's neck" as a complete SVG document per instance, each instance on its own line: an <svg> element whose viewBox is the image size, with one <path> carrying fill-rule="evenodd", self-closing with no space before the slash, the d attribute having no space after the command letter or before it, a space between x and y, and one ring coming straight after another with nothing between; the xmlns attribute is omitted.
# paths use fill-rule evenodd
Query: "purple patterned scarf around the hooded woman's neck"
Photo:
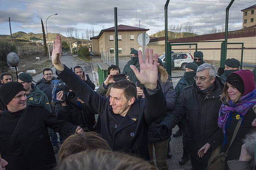
<svg viewBox="0 0 256 170"><path fill-rule="evenodd" d="M218 126L222 129L224 134L224 144L227 142L226 129L231 123L231 114L236 111L238 114L236 116L237 121L243 119L244 115L256 104L256 88L244 96L242 96L237 103L233 103L229 100L228 105L222 103L221 109L219 109L219 119Z"/></svg>

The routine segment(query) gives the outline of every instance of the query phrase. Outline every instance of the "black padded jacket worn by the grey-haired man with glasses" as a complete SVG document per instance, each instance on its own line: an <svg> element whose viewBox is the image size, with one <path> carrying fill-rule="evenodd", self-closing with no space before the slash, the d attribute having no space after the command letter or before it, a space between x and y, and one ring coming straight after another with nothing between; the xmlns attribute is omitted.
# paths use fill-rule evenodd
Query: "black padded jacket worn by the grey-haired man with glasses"
<svg viewBox="0 0 256 170"><path fill-rule="evenodd" d="M223 84L216 77L215 89L209 96L204 96L194 82L182 90L176 105L171 112L170 126L173 128L185 114L186 131L184 147L197 161L207 163L211 149L199 158L198 150L207 142L213 141L212 135L219 129L218 113L221 107L220 96Z"/></svg>

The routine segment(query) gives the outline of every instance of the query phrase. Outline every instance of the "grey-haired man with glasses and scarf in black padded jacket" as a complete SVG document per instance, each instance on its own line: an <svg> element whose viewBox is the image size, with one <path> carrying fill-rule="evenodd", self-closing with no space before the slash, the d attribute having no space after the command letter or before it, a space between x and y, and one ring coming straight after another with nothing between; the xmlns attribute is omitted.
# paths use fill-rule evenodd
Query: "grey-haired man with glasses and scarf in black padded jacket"
<svg viewBox="0 0 256 170"><path fill-rule="evenodd" d="M182 90L170 113L170 128L182 116L186 117L184 148L189 153L194 170L207 168L212 149L203 158L199 158L198 151L205 143L215 142L211 137L219 128L217 122L223 84L216 73L214 66L207 63L200 65L194 77L195 82Z"/></svg>

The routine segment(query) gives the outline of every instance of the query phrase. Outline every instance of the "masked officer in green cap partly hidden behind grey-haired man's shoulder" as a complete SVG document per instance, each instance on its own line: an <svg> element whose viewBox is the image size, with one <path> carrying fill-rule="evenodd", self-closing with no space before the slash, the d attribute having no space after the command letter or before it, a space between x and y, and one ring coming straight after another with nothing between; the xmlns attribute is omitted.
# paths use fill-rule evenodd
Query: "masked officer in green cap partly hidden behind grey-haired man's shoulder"
<svg viewBox="0 0 256 170"><path fill-rule="evenodd" d="M179 80L178 84L175 87L175 93L176 93L176 98L178 98L181 94L181 91L190 85L193 85L193 83L195 82L194 77L196 77L196 70L197 70L198 66L196 65L196 63L187 63L185 66L185 73L184 75L181 77L181 79ZM184 143L184 138L185 138L185 124L186 123L186 118L182 117L181 121L178 123L178 131L176 131L173 134L173 137L178 137L182 135L182 143ZM189 160L189 155L188 152L185 150L185 148L183 147L183 155L179 161L180 165L185 165L185 163Z"/></svg>

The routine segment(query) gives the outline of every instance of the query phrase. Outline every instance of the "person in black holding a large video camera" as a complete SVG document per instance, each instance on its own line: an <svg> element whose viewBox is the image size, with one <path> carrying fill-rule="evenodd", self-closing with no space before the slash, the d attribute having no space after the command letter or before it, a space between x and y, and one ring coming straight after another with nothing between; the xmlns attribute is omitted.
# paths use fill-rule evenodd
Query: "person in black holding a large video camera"
<svg viewBox="0 0 256 170"><path fill-rule="evenodd" d="M90 113L92 112L91 109L82 100L74 96L75 93L72 90L68 90L71 92L68 93L66 92L67 89L61 89L56 94L56 99L59 101L55 107L57 117L74 125L80 125L84 130L93 131L95 116Z"/></svg>

